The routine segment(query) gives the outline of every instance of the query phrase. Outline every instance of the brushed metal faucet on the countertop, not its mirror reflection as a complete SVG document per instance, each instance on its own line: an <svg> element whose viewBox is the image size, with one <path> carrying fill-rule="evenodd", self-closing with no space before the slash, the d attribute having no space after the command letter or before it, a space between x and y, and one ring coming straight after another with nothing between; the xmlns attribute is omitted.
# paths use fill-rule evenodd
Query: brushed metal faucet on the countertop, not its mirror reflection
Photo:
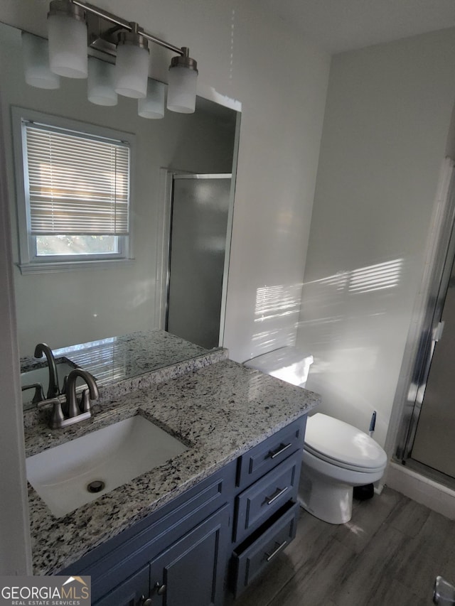
<svg viewBox="0 0 455 606"><path fill-rule="evenodd" d="M87 383L88 389L82 391L80 401L77 401L76 381L77 377L82 377ZM38 403L38 408L45 406L53 406L52 415L50 416L49 426L52 429L58 429L85 421L92 416L90 400L96 400L99 397L97 383L95 377L90 372L75 368L68 374L65 381L65 396L60 396L44 400Z"/></svg>

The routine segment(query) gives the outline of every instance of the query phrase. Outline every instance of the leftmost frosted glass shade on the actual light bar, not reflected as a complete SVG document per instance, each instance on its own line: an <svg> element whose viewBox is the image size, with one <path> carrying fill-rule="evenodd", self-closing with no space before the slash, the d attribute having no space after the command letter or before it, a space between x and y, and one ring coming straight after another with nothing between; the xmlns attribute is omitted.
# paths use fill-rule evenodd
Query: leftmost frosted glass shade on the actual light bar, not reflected
<svg viewBox="0 0 455 606"><path fill-rule="evenodd" d="M69 78L87 77L87 24L65 14L48 16L50 69Z"/></svg>

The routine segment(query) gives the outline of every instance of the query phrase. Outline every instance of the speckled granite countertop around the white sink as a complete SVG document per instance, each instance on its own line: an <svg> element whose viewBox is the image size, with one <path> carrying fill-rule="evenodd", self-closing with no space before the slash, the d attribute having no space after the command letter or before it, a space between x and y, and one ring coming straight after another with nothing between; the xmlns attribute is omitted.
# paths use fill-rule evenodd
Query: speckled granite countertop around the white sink
<svg viewBox="0 0 455 606"><path fill-rule="evenodd" d="M190 448L56 518L28 485L33 573L55 574L311 411L320 396L230 360L94 406L90 421L26 428L26 456L141 414Z"/></svg>

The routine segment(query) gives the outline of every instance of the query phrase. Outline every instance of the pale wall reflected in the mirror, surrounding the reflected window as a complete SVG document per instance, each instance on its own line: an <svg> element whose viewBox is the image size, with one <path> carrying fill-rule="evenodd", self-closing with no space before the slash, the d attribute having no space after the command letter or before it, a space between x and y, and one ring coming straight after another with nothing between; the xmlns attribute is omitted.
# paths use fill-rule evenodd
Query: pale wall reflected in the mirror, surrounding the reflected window
<svg viewBox="0 0 455 606"><path fill-rule="evenodd" d="M6 141L11 141L6 149L6 169L21 357L33 355L38 342L47 342L55 349L165 328L169 175L232 173L237 112L198 98L194 114L166 110L164 119L144 119L138 116L136 99L119 95L115 107L88 102L86 80L61 78L58 90L27 85L21 31L3 23L0 47L2 119ZM13 107L42 112L43 120L46 116L63 117L134 136L131 260L107 268L93 264L70 271L62 267L61 271L45 273L21 272L16 204L20 167L14 155Z"/></svg>

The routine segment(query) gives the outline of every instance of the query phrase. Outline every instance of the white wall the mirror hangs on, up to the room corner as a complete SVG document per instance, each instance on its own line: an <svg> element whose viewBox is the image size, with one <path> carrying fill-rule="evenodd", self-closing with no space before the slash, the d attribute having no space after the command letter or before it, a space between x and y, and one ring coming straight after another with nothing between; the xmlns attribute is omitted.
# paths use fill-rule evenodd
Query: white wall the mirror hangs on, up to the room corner
<svg viewBox="0 0 455 606"><path fill-rule="evenodd" d="M97 4L188 45L200 94L242 102L225 345L245 359L294 340L330 58L264 14L259 0ZM0 21L44 33L47 10L46 2L3 0ZM155 54L168 64L169 53ZM0 288L8 290L4 276ZM272 305L261 310L267 296ZM13 523L6 530L14 536Z"/></svg>

